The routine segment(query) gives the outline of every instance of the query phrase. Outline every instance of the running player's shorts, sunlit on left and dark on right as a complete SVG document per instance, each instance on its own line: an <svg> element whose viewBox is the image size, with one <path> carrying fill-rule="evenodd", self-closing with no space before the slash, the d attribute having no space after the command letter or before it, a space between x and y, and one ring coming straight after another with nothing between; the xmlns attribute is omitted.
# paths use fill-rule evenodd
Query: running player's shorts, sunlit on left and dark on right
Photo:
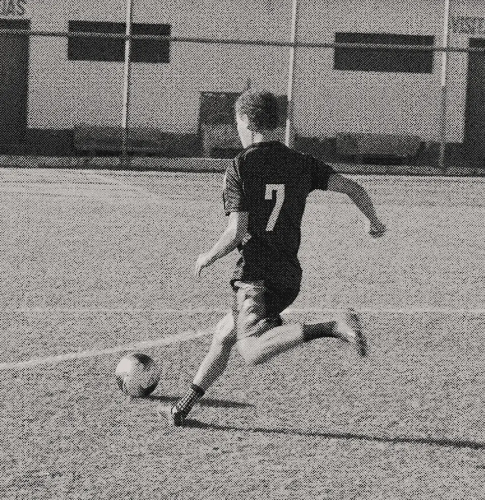
<svg viewBox="0 0 485 500"><path fill-rule="evenodd" d="M238 339L262 335L280 326L280 313L295 301L300 291L299 286L276 288L264 280L236 280L232 289L232 314Z"/></svg>

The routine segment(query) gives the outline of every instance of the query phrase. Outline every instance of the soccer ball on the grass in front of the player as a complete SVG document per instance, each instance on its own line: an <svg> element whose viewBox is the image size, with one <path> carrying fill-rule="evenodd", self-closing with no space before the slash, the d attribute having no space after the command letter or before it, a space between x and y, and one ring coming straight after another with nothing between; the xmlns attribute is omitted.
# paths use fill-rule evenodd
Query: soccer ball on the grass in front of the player
<svg viewBox="0 0 485 500"><path fill-rule="evenodd" d="M115 370L119 388L131 397L147 397L160 381L160 370L146 354L127 354Z"/></svg>

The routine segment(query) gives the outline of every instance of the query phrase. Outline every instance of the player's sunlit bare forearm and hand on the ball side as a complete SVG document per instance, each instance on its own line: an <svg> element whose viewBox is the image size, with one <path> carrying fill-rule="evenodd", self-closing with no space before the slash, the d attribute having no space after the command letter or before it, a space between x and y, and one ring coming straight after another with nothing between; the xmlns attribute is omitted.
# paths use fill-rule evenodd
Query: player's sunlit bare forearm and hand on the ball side
<svg viewBox="0 0 485 500"><path fill-rule="evenodd" d="M221 237L209 252L201 254L197 259L195 276L200 276L201 271L205 267L214 264L221 257L230 254L243 241L247 233L248 212L231 212L229 214L229 221Z"/></svg>

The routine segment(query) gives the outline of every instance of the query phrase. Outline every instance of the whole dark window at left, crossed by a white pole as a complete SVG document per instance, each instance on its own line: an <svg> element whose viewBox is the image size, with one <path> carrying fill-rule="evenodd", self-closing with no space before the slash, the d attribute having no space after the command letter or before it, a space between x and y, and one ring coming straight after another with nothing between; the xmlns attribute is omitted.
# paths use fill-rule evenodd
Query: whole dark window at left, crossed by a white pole
<svg viewBox="0 0 485 500"><path fill-rule="evenodd" d="M69 31L124 34L126 24L69 21ZM170 25L133 23L131 34L170 36ZM69 61L123 62L125 60L125 40L124 38L88 36L69 38L68 59ZM170 62L170 42L166 40L132 40L131 60L135 63L168 63Z"/></svg>

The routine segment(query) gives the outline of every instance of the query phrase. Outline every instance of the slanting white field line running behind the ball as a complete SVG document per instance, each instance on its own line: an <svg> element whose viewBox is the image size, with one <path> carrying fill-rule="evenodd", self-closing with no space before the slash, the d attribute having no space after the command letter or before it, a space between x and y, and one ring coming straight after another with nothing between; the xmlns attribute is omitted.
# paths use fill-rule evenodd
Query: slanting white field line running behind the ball
<svg viewBox="0 0 485 500"><path fill-rule="evenodd" d="M45 364L55 364L63 361L79 360L83 358L94 358L97 356L104 356L107 354L115 354L126 351L134 351L138 349L146 349L149 347L156 347L160 345L171 345L178 342L184 342L186 340L193 340L196 338L203 337L209 332L205 331L187 331L184 333L179 333L175 335L170 335L166 337L159 338L157 340L142 340L139 342L133 342L130 344L117 345L114 347L108 347L106 349L91 349L87 351L80 351L77 353L67 353L58 356L48 356L46 358L34 358L28 361L10 362L10 363L0 363L0 371L3 370L20 370L23 368L30 368L38 365Z"/></svg>

